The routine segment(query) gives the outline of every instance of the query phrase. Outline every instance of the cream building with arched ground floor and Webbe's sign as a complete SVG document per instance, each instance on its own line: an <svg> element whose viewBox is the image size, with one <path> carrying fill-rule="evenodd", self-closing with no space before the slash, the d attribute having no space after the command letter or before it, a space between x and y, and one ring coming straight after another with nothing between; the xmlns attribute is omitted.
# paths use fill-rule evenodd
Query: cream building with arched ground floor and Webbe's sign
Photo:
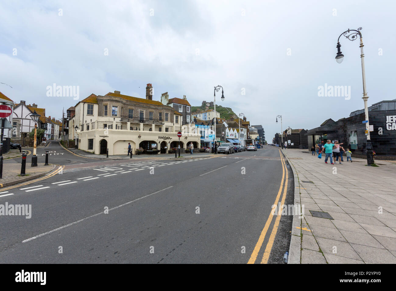
<svg viewBox="0 0 396 291"><path fill-rule="evenodd" d="M110 155L133 153L165 154L177 147L177 132L182 131L182 149L192 142L200 144L200 135L183 126L183 114L173 107L152 100L152 85L147 84L146 98L123 95L120 91L106 95L91 94L78 102L69 120L69 139L77 138L78 148Z"/></svg>

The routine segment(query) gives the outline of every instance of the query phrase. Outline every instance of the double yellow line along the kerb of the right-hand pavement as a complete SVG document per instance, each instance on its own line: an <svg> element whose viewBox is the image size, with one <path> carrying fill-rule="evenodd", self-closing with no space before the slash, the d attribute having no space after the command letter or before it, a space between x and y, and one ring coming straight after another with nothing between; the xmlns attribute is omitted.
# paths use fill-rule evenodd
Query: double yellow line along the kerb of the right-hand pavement
<svg viewBox="0 0 396 291"><path fill-rule="evenodd" d="M286 168L285 160L284 160L280 150L279 150L279 154L280 154L280 159L282 161L283 173L282 173L282 181L280 183L278 195L276 196L274 205L278 205L278 202L280 199L280 194L282 193L282 188L283 188L283 195L282 195L281 205L283 205L285 203L286 192L287 192L287 179L288 179L287 168ZM285 179L285 172L286 172L286 179ZM268 262L268 259L269 259L270 253L271 253L271 249L272 249L272 245L274 244L274 241L275 241L276 232L278 231L281 213L282 213L282 207L280 207L278 209L278 215L276 216L275 223L274 223L274 226L272 227L272 231L270 234L270 238L268 239L267 246L265 247L263 258L261 259L261 264L267 264L267 262ZM257 241L255 248L253 249L253 253L250 256L249 261L247 262L248 264L255 263L257 256L259 255L261 246L263 245L265 236L267 235L268 228L270 227L270 224L272 223L273 217L274 217L274 215L272 215L272 213L270 213L270 215L268 216L267 222L265 223L265 226L264 226L263 230L261 231L259 240Z"/></svg>

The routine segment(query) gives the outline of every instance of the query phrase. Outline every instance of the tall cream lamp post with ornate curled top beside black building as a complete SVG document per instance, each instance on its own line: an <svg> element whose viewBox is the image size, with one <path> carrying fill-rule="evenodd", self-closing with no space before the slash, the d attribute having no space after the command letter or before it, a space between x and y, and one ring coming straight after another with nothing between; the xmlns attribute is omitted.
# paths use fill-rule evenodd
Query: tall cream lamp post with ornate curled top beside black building
<svg viewBox="0 0 396 291"><path fill-rule="evenodd" d="M363 79L363 101L364 101L364 116L366 119L366 135L367 135L367 143L366 143L366 154L367 154L367 165L372 165L374 164L374 157L373 157L373 145L371 144L371 139L370 139L370 125L369 125L369 112L367 109L367 99L369 97L367 96L367 91L366 91L366 72L364 69L364 53L363 53L363 38L362 34L360 33L360 30L362 27L359 27L358 30L355 29L348 29L341 33L341 35L338 37L337 40L337 55L335 56L335 60L337 63L341 64L341 62L344 59L344 55L342 54L341 51L341 44L340 44L340 37L345 36L348 40L354 41L358 39L358 36L360 38L360 60L362 61L362 79Z"/></svg>

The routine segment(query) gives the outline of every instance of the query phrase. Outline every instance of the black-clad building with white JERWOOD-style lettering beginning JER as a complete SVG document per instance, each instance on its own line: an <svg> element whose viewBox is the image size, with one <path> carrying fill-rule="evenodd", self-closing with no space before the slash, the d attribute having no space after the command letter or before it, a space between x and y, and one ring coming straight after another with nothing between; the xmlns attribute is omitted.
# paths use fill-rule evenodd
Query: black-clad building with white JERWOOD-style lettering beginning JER
<svg viewBox="0 0 396 291"><path fill-rule="evenodd" d="M370 138L377 159L396 159L396 99L381 101L368 107ZM339 140L355 154L366 154L364 109L337 121L331 118L321 126L308 130L308 148L327 139Z"/></svg>

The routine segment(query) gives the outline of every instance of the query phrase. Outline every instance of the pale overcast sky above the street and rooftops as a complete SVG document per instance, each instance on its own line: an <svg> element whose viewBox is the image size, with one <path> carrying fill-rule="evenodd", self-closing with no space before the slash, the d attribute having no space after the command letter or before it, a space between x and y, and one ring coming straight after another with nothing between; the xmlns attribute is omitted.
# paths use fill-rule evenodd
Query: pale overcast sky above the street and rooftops
<svg viewBox="0 0 396 291"><path fill-rule="evenodd" d="M0 91L61 118L73 97L47 86L79 86L80 99L114 90L154 100L213 100L261 124L268 142L283 129L312 129L364 108L361 30L369 105L395 99L395 1L2 1ZM61 14L61 15L60 15ZM108 53L107 53L108 52ZM350 86L350 99L318 97L319 86ZM243 92L246 92L243 95ZM221 96L221 93L217 95Z"/></svg>

